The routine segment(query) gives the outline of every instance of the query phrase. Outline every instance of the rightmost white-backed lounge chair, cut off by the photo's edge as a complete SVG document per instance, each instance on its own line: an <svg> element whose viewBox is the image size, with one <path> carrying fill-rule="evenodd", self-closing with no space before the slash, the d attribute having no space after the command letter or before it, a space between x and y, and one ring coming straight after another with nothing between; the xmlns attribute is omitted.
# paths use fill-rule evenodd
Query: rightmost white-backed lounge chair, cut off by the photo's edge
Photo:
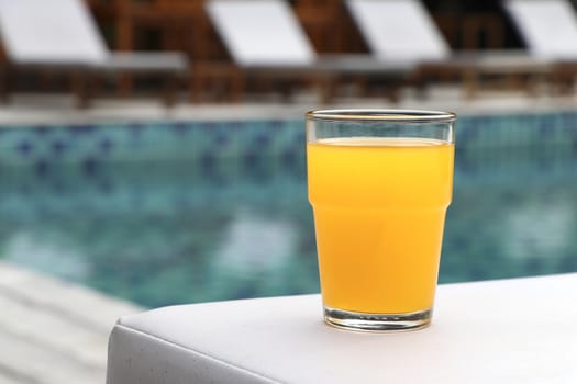
<svg viewBox="0 0 577 384"><path fill-rule="evenodd" d="M577 75L577 15L572 3L506 0L502 5L530 55L554 63L553 83L559 90L573 88Z"/></svg>

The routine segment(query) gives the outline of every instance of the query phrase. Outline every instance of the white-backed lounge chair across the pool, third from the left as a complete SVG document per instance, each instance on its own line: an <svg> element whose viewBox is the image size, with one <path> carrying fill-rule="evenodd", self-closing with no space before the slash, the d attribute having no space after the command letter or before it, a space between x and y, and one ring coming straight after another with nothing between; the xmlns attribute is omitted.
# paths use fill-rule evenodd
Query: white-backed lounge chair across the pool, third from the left
<svg viewBox="0 0 577 384"><path fill-rule="evenodd" d="M370 52L382 60L400 59L420 68L415 82L430 77L458 78L473 97L481 76L515 77L548 71L551 63L520 52L455 54L419 0L346 0Z"/></svg>

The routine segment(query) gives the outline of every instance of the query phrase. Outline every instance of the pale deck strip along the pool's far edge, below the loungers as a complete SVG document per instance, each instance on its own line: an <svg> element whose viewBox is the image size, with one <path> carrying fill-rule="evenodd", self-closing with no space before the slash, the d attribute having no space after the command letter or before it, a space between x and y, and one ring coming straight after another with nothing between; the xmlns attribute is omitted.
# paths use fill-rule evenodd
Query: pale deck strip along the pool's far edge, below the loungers
<svg viewBox="0 0 577 384"><path fill-rule="evenodd" d="M74 105L70 94L14 94L10 104L0 106L0 123L298 118L308 110L333 108L451 110L457 114L495 114L574 110L577 108L577 92L551 95L546 92L529 94L523 91L487 90L470 99L458 86L433 86L424 97L414 89L404 89L396 103L382 98L341 98L331 104L320 104L317 95L302 93L297 94L290 103L278 101L278 97L271 95L266 100L232 104L191 104L182 99L174 108L166 108L155 99L99 99L86 110Z"/></svg>

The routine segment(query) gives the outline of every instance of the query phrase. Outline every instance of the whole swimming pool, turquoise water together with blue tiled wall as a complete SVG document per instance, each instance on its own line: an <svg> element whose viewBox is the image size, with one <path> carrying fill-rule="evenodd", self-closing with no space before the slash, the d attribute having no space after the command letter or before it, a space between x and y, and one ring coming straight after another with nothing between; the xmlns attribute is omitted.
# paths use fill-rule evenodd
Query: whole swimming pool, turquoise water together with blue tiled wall
<svg viewBox="0 0 577 384"><path fill-rule="evenodd" d="M0 259L146 306L319 291L303 122L0 128ZM440 281L577 271L577 113L457 123Z"/></svg>

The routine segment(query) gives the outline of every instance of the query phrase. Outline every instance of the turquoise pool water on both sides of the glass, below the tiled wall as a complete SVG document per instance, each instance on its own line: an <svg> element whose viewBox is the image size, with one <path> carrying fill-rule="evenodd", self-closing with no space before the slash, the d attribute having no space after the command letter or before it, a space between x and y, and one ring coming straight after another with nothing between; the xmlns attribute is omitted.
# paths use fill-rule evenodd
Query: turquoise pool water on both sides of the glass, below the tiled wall
<svg viewBox="0 0 577 384"><path fill-rule="evenodd" d="M577 271L577 157L457 150L441 282ZM0 172L0 257L143 305L319 291L304 159Z"/></svg>

